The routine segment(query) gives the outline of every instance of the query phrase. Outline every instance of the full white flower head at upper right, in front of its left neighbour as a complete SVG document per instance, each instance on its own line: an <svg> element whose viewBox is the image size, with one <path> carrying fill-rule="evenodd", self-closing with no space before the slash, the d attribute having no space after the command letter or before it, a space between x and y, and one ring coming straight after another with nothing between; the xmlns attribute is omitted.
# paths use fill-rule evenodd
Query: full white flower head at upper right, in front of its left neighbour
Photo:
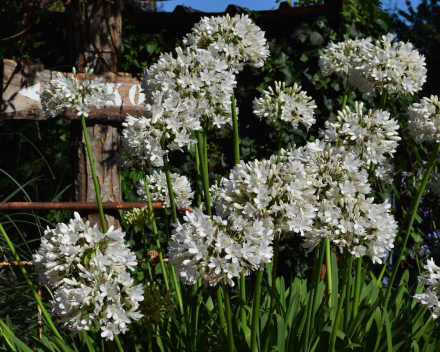
<svg viewBox="0 0 440 352"><path fill-rule="evenodd" d="M372 47L364 46L354 59L350 83L361 92L414 94L426 82L425 57L411 43L393 43L388 33Z"/></svg>

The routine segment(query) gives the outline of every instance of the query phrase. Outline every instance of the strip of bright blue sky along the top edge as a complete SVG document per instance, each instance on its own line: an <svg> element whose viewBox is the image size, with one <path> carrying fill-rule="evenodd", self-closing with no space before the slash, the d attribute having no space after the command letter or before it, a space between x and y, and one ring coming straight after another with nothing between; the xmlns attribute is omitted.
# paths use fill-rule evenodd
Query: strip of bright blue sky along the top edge
<svg viewBox="0 0 440 352"><path fill-rule="evenodd" d="M405 0L382 0L384 9L398 8L406 9ZM420 0L410 0L413 7L417 7ZM177 5L190 6L204 12L223 12L229 4L247 7L250 10L270 10L272 7L277 9L279 4L275 0L170 0L163 1L159 6L163 6L162 11L172 12Z"/></svg>

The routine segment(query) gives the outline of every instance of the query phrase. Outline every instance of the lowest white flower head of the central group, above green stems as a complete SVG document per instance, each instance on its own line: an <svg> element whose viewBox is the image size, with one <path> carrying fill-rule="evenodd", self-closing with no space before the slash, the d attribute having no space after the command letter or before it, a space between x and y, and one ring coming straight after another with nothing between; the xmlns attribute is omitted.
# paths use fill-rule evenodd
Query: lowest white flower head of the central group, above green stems
<svg viewBox="0 0 440 352"><path fill-rule="evenodd" d="M202 278L206 286L234 286L233 278L270 263L273 235L261 221L242 221L242 230L227 230L226 221L218 216L212 220L199 208L184 219L175 225L169 246L169 262L183 283Z"/></svg>

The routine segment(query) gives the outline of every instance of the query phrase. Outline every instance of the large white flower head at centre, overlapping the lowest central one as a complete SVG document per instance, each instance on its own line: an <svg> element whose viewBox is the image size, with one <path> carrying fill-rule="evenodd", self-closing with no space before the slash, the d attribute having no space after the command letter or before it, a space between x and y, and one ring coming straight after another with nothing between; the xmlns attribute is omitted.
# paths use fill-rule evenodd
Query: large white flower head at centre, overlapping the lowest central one
<svg viewBox="0 0 440 352"><path fill-rule="evenodd" d="M243 221L258 220L284 237L311 228L314 193L301 161L277 164L276 155L261 162L241 161L220 183L216 212L229 217L237 230L243 228Z"/></svg>

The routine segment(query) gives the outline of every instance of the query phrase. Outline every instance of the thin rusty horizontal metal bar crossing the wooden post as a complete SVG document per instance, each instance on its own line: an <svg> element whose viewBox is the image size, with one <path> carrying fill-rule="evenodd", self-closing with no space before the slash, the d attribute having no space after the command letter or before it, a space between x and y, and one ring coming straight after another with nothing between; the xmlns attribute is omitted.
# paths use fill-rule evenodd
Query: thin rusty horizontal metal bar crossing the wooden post
<svg viewBox="0 0 440 352"><path fill-rule="evenodd" d="M163 209L162 203L153 203L153 209ZM122 210L148 207L146 202L103 202L104 210ZM9 202L0 203L0 210L98 210L96 202ZM178 208L180 211L193 212L192 208Z"/></svg>

